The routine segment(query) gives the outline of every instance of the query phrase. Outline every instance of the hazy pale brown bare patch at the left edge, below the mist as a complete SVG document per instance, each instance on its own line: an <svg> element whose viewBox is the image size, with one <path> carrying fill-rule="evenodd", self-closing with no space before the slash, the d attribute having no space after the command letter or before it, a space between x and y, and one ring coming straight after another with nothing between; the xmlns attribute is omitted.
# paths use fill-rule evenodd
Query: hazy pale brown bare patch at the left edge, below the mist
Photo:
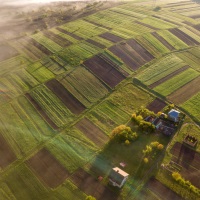
<svg viewBox="0 0 200 200"><path fill-rule="evenodd" d="M17 56L19 53L13 47L9 45L0 45L0 62L14 56Z"/></svg>

